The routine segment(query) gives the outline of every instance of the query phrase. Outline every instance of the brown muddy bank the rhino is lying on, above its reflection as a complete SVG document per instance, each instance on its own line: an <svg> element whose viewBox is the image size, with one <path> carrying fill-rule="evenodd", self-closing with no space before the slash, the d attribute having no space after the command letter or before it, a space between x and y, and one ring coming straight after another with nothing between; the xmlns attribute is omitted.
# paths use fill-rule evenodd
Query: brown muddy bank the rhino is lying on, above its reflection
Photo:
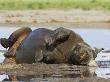
<svg viewBox="0 0 110 82"><path fill-rule="evenodd" d="M95 68L94 68L95 69ZM15 75L65 75L65 74L82 74L89 71L87 66L67 65L67 64L0 64L0 73L6 71L8 74ZM90 71L89 71L90 72Z"/></svg>

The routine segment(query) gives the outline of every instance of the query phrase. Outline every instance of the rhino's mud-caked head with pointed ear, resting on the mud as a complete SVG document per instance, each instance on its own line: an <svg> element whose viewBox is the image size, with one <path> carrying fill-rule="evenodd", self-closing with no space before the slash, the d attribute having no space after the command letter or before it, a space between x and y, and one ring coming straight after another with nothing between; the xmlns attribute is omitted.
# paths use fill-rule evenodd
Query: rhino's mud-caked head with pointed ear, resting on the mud
<svg viewBox="0 0 110 82"><path fill-rule="evenodd" d="M103 50L103 48L93 50L89 45L83 42L77 43L72 48L70 58L73 64L97 66L95 58L101 50Z"/></svg>

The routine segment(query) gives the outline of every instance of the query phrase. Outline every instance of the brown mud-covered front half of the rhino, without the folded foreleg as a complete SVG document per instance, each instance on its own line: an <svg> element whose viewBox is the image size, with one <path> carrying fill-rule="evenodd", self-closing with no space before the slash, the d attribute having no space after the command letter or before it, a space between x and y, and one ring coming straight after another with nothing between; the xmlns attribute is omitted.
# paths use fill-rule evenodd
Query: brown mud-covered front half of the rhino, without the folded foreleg
<svg viewBox="0 0 110 82"><path fill-rule="evenodd" d="M61 30L68 32L69 38L58 45L56 41L54 46L50 46L44 62L90 65L91 60L94 60L95 51L77 33L65 28L58 28L55 31Z"/></svg>

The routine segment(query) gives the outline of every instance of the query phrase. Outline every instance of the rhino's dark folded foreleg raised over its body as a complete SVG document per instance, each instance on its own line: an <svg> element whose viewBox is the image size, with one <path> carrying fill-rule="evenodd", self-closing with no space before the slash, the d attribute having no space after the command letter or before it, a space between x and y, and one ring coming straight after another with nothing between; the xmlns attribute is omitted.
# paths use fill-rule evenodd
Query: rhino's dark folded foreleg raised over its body
<svg viewBox="0 0 110 82"><path fill-rule="evenodd" d="M53 34L45 36L45 43L48 44L48 46L62 43L68 40L70 33L71 33L70 30L67 30L62 27L58 28L53 31Z"/></svg>

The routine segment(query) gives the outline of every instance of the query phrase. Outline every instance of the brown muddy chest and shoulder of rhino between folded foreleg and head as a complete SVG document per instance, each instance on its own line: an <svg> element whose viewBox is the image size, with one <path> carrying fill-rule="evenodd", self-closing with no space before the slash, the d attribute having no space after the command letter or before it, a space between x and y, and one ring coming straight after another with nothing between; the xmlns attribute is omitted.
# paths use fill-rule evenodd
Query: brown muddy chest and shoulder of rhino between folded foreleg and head
<svg viewBox="0 0 110 82"><path fill-rule="evenodd" d="M58 28L55 30L55 32L61 30L69 32L69 38L58 45L57 43L59 41L56 41L55 44L49 47L48 52L46 53L47 58L45 58L46 63L69 63L69 53L71 52L72 47L76 43L83 42L83 39L71 30L65 28Z"/></svg>

